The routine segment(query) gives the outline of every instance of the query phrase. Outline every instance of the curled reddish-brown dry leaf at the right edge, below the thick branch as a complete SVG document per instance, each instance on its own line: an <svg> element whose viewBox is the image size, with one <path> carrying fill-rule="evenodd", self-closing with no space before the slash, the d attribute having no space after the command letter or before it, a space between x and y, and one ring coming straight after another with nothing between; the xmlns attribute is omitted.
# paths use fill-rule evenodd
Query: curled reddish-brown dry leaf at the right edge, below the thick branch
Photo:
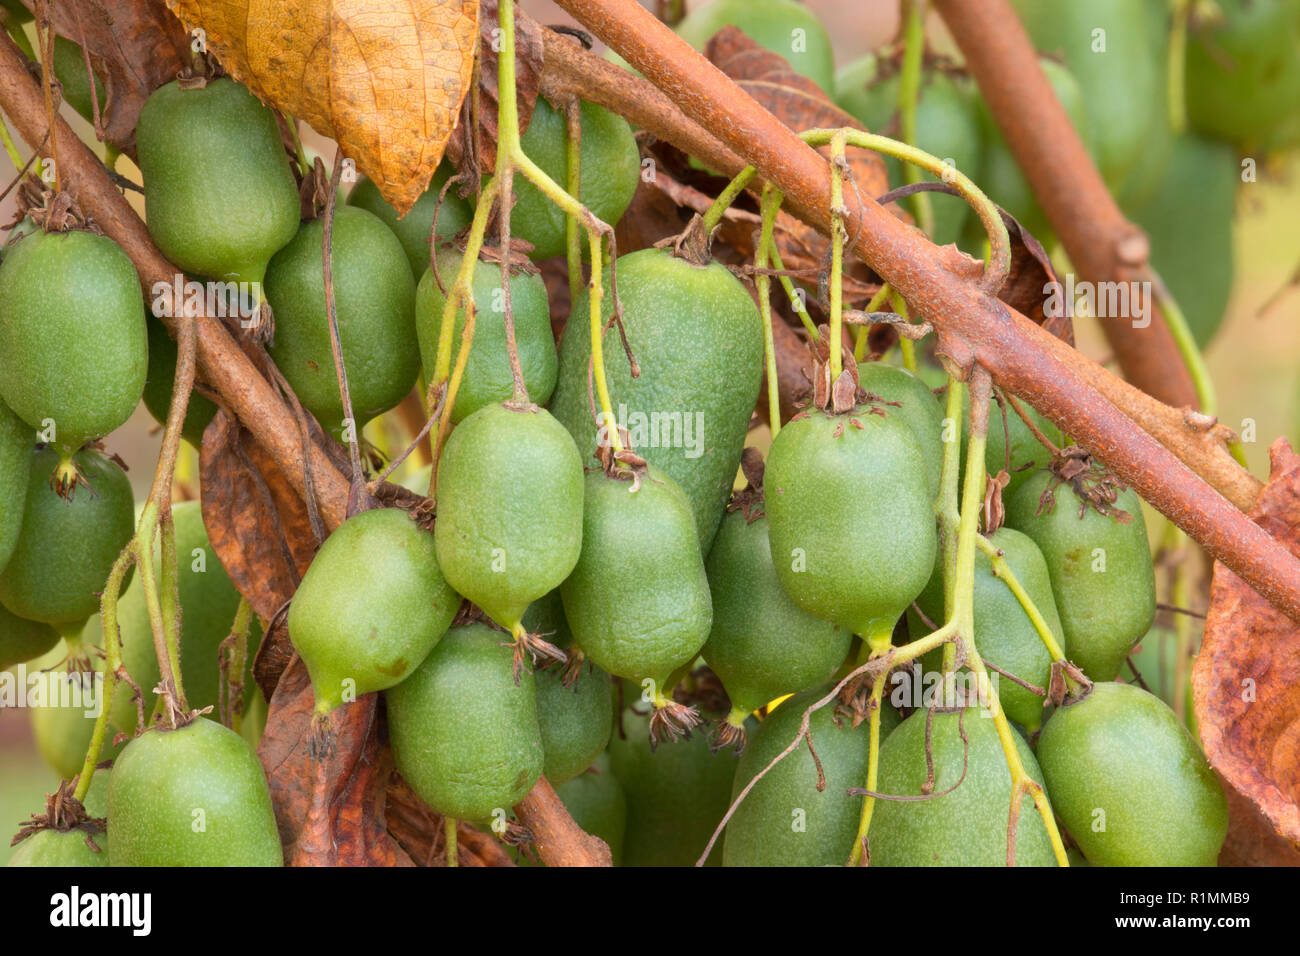
<svg viewBox="0 0 1300 956"><path fill-rule="evenodd" d="M1251 518L1300 555L1300 457L1278 438ZM1210 763L1300 847L1300 627L1222 564L1192 670Z"/></svg>

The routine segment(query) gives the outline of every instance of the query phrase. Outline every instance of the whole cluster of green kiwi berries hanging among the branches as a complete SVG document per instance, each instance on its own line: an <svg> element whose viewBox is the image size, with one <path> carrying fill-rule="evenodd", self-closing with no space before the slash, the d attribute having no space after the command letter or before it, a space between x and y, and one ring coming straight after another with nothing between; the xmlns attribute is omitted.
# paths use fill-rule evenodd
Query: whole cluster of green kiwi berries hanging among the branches
<svg viewBox="0 0 1300 956"><path fill-rule="evenodd" d="M836 81L826 31L801 4L719 0L679 29L702 44L728 22L824 88L837 86L845 108L868 126L888 124L874 112L894 96L881 92L890 82L885 59ZM807 52L790 51L792 29L806 31ZM1049 69L1067 77L1056 64ZM958 122L936 105L965 96L961 82L936 69L922 116L946 111L932 135L952 137L944 140L954 143L950 152L971 157L967 173L993 169L988 125L971 112ZM1084 88L1076 98L1091 107L1096 96ZM592 104L580 116L580 198L614 224L637 187L638 147L623 118ZM472 190L448 186L454 169L439 168L406 216L364 179L335 211L348 423L328 330L324 229L320 220L300 221L274 114L230 78L173 82L146 104L136 147L153 241L188 274L256 290L257 315L273 315L268 351L326 432L359 432L433 373L447 284L474 212ZM523 148L563 181L566 121L545 99ZM559 211L523 181L515 198L512 230L529 243L529 258L562 254ZM126 255L92 229L65 225L35 211L12 232L0 264L3 667L101 666L91 653L100 643L98 593L131 537L134 505L122 468L96 440L142 397L161 418L176 365L176 345L146 313ZM966 224L940 228L950 241ZM623 350L606 349L604 373L620 425L636 416L670 423L677 440L627 447L638 434L632 428L614 454L612 429L593 420L582 324L556 346L542 276L507 254L508 342L503 256L491 252L473 267L469 354L452 355L464 372L446 411L454 428L438 458L432 529L420 510L356 514L326 538L294 596L287 627L311 674L317 739L328 743L334 710L382 692L396 767L438 813L498 825L545 774L616 862L688 865L812 704L870 650L942 620L935 498L945 414L931 388L940 381L884 360L850 362L850 401L806 407L780 429L764 464L745 450L764 349L753 297L722 264L646 248L616 261L621 334L638 372ZM584 291L572 315L588 307ZM612 320L610 297L603 308ZM465 320L458 315L452 347ZM191 399L190 442L202 442L214 411L202 395ZM694 421L699 442L682 441ZM993 416L987 470L1008 475L1006 519L985 532L1087 678L1076 687L1091 689L1045 708L1041 689L1060 662L980 551L974 640L1008 678L1000 698L1020 761L1044 784L1078 861L1213 865L1227 812L1195 736L1166 702L1115 680L1156 614L1141 503L1100 466L1050 455L1040 436L1066 444L1032 410L1027 420ZM736 490L742 462L748 485ZM407 483L424 493L429 479L426 468ZM178 553L196 558L181 562L179 649L187 697L202 710L218 702L217 645L239 597L198 505L178 505L174 522ZM178 728L151 726L159 662L139 581L124 592L118 626L139 693L114 700L103 750L112 769L96 771L79 813L47 821L52 826L25 839L13 861L281 864L254 750L265 721L260 695L252 689L235 713L228 709L238 732L213 713ZM254 627L250 659L259 639ZM975 702L936 709L885 695L876 790L927 799L878 803L874 865L1005 861L1011 779L985 715ZM81 773L90 721L79 709L36 708L34 730L62 778ZM801 747L763 777L708 862L848 858L862 808L850 791L867 777L867 726L845 700L814 710L811 731L816 757ZM194 806L205 810L203 830L192 826ZM91 845L87 832L105 819L107 840ZM1017 862L1054 862L1032 809L1019 821Z"/></svg>

